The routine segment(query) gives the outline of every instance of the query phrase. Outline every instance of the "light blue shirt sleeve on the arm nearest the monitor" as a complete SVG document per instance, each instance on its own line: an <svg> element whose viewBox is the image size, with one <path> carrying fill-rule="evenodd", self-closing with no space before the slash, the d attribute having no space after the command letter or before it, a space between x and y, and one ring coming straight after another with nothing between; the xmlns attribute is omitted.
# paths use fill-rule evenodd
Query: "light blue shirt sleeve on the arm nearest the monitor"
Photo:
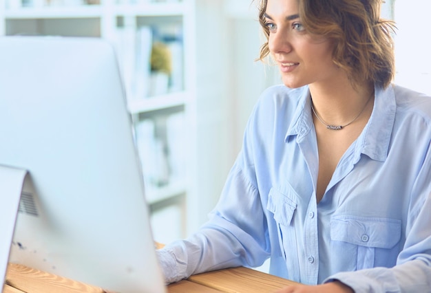
<svg viewBox="0 0 431 293"><path fill-rule="evenodd" d="M191 237L157 250L166 283L210 270L262 265L269 257L264 217L257 191L235 163L209 221Z"/></svg>

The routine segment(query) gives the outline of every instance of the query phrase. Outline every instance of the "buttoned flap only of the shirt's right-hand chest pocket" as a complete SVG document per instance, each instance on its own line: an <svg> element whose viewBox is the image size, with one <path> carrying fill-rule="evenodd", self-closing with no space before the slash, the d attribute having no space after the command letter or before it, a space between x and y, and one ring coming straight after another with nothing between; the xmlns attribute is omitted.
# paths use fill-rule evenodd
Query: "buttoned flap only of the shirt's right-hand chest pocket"
<svg viewBox="0 0 431 293"><path fill-rule="evenodd" d="M335 216L330 219L330 238L359 246L392 248L401 239L401 220Z"/></svg>

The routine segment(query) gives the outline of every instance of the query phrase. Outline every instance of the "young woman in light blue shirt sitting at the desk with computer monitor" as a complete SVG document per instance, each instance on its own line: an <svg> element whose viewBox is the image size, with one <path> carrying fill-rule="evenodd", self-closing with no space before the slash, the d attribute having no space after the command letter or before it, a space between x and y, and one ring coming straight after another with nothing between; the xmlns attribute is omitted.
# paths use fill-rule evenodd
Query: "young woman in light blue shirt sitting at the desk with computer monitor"
<svg viewBox="0 0 431 293"><path fill-rule="evenodd" d="M430 292L431 98L392 85L381 0L261 0L264 91L220 202L158 250L167 282L258 266L282 292Z"/></svg>

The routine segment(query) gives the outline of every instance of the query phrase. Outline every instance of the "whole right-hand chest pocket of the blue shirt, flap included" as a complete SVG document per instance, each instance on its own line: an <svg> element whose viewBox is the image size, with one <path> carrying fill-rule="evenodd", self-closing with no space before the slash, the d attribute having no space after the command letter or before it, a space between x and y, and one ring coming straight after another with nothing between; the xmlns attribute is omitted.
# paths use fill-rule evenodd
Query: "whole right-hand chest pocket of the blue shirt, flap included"
<svg viewBox="0 0 431 293"><path fill-rule="evenodd" d="M334 216L330 220L330 238L333 253L349 256L350 263L340 263L341 267L353 270L390 267L395 265L399 253L401 220Z"/></svg>

